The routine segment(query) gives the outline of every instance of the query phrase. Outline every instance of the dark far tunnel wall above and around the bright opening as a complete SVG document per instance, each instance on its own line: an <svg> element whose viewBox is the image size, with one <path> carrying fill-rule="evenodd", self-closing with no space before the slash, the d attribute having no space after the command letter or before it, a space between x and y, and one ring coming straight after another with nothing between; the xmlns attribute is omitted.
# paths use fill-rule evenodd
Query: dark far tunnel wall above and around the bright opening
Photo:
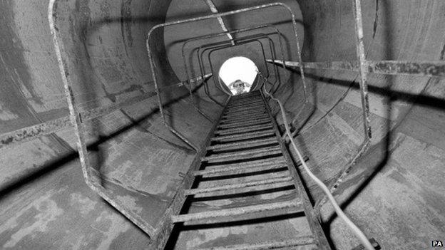
<svg viewBox="0 0 445 250"><path fill-rule="evenodd" d="M296 1L286 0L280 1L284 4L290 6L292 11L295 13L295 19L297 21L297 32L299 35L300 44L304 41L304 31L302 29L302 18L300 7L298 6ZM251 6L259 6L261 4L270 4L270 1L214 1L215 6L217 6L218 11L232 11L235 9L242 9ZM190 13L190 17L194 16L203 16L211 14L209 7L205 4L205 1L180 1L173 0L170 4L170 9L168 10L166 19L169 21L178 20L178 16L183 14L184 12ZM281 6L274 6L267 9L261 9L258 11L245 12L243 14L236 14L232 16L223 17L225 21L225 26L230 31L234 31L240 28L250 28L252 26L260 26L264 24L271 24L272 28L260 28L253 31L246 31L242 33L235 33L232 36L234 38L242 38L246 36L252 36L257 33L266 33L270 34L270 38L272 39L272 43L275 43L275 52L277 53L277 57L281 58L281 48L279 42L279 36L276 34L271 34L275 31L274 28L278 28L278 30L282 33L282 51L285 53L285 58L287 60L296 60L297 55L297 46L295 44L295 34L292 29L292 25L290 24L290 13L283 9ZM220 24L216 19L208 19L205 21L197 21L188 24L182 24L178 26L170 26L165 28L165 50L167 51L167 56L170 65L175 71L176 75L180 79L185 79L185 69L183 66L183 58L181 56L181 47L184 41L187 41L190 38L194 38L196 36L204 36L212 33L219 33L223 30L220 27ZM221 41L229 41L227 36L218 36L215 38L207 38L205 40L200 41L190 41L185 46L185 61L187 63L189 74L195 76L196 74L200 74L200 68L198 64L198 60L196 59L196 52L200 46L205 46L208 43L216 43ZM270 47L267 39L263 38L260 40L265 47L265 53L267 58L272 58L270 56ZM203 61L203 67L206 73L211 73L210 65L207 60L208 53L204 53L205 60ZM255 61L257 67L261 72L266 75L266 66L263 62L263 56L261 47L257 42L248 43L243 46L236 46L233 48L227 48L223 51L215 52L215 56L212 56L213 65L215 68L215 73L218 73L220 66L223 63L233 57L233 56L245 56L250 58L252 61ZM272 67L269 67L269 71L271 74L271 79L275 80L275 73L273 72ZM283 72L283 74L287 75L288 73ZM285 80L287 80L285 76ZM217 80L217 78L213 78L213 80ZM218 100L224 100L227 98L227 95L223 94L219 91L213 80L209 82L210 93L213 93L215 98L220 98ZM216 81L218 83L218 81ZM203 98L206 97L205 93L201 90L200 96Z"/></svg>

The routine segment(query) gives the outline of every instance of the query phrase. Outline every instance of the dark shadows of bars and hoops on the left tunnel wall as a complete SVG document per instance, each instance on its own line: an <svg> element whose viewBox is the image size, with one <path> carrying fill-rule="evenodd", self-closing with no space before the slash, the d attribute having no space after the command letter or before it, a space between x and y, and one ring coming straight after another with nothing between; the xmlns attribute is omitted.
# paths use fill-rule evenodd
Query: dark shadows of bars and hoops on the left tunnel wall
<svg viewBox="0 0 445 250"><path fill-rule="evenodd" d="M178 16L178 19L186 18L187 16ZM142 16L142 17L120 17L120 18L107 18L107 19L101 19L98 21L93 21L90 23L90 21L78 21L76 24L78 28L78 33L71 32L71 38L73 41L77 41L75 48L73 48L73 51L76 51L78 53L77 55L85 55L86 59L85 63L76 63L76 67L78 68L79 74L76 75L78 77L78 85L79 88L83 90L88 91L88 98L91 98L93 102L88 103L88 105L92 106L99 106L100 103L98 102L99 98L101 96L98 95L96 92L96 88L93 88L91 86L91 83L101 83L101 80L98 79L96 73L94 72L93 62L91 61L91 56L88 51L88 47L86 46L88 42L88 37L92 36L93 33L95 33L101 26L106 26L108 24L122 24L122 26L126 26L126 24L153 24L153 23L161 23L163 22L162 17L148 17L148 16ZM129 27L128 27L129 28ZM80 36L77 36L77 34L81 34ZM69 36L69 35L68 35ZM125 36L123 37L124 41L126 41ZM127 46L125 46L127 48ZM145 51L145 50L144 50ZM127 51L128 53L128 51ZM78 62L78 61L76 61ZM148 85L151 82L148 83L140 83L140 85ZM123 93L129 93L133 90L138 90L140 93L146 93L145 90L143 90L142 87L140 88L133 88L130 87L127 90L123 90L120 93L107 93L106 86L102 85L102 88L104 92L106 93L106 97L111 100L111 102L116 103L116 96L121 95ZM183 98L186 98L188 93L180 93L180 95L176 95L175 98L168 98L168 100L164 103L165 108L168 108L168 106L177 103L179 100L183 100ZM149 130L146 130L143 127L143 123L148 120L149 118L152 118L153 115L158 114L158 108L152 108L150 112L145 113L143 115L140 115L140 118L131 118L130 115L128 115L125 110L121 110L124 115L128 117L128 125L121 127L118 130L115 130L113 132L108 132L107 134L103 133L103 127L101 125L98 125L98 123L93 123L91 127L88 127L88 129L91 129L95 134L93 135L94 139L93 142L91 142L88 145L88 152L94 152L94 158L95 161L92 162L92 166L96 166L96 170L100 172L101 167L104 164L106 153L103 151L103 144L106 142L109 142L110 140L113 140L114 138L118 137L119 135L122 135L125 132L128 132L129 130L134 129L135 127L140 128L141 130L145 130L145 132L150 133L151 135L154 135L153 132L150 132ZM96 118L100 119L100 118ZM183 150L187 152L188 154L193 153L193 150L190 150L188 147L182 147L180 145L175 145L173 142L169 142L165 138L161 137L160 135L154 135L155 137L160 138L161 140L167 142L169 145L172 145L173 147L178 148L179 150ZM91 154L92 155L92 154ZM90 155L90 157L91 157ZM26 184L29 184L31 182L36 181L37 179L46 177L47 175L51 174L51 172L58 170L60 167L66 166L69 162L72 162L73 160L78 159L78 152L76 150L71 150L71 152L68 152L66 155L63 155L61 157L58 157L55 160L51 160L50 162L47 162L45 165L42 165L37 170L30 171L28 174L24 175L20 179L14 180L14 182L6 183L2 185L0 188L0 197L6 198L9 194L16 191L17 189L20 189L21 187L24 187ZM102 179L103 181L103 179ZM111 206L112 207L112 206Z"/></svg>

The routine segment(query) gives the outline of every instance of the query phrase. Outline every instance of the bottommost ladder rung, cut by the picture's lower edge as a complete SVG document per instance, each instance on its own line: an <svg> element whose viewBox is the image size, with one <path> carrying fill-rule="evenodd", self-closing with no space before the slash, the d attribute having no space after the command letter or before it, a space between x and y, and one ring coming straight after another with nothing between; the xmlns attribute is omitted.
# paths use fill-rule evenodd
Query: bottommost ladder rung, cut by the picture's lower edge
<svg viewBox="0 0 445 250"><path fill-rule="evenodd" d="M269 249L283 249L292 248L295 246L305 246L316 244L312 236L297 237L297 239L290 239L285 241L267 241L259 244L239 244L231 246L217 246L211 249L199 250L269 250Z"/></svg>

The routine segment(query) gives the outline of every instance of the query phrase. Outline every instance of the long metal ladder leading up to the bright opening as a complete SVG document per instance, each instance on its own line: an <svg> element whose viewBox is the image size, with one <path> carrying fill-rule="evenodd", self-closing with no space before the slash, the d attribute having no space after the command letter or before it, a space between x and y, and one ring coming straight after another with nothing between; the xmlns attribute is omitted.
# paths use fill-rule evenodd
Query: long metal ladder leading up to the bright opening
<svg viewBox="0 0 445 250"><path fill-rule="evenodd" d="M260 90L236 95L230 99L206 150L205 156L201 158L200 169L193 172L195 177L193 187L183 192L188 199L197 195L215 198L265 190L273 192L285 187L292 190L294 195L286 201L266 203L263 201L227 209L193 213L183 209L183 214L172 216L173 223L218 224L302 213L310 226L311 235L287 241L241 244L213 249L298 249L299 246L307 245L314 246L314 249L330 249L297 169L280 138L280 132L272 118L265 95ZM265 172L276 172L279 176L265 175L266 177L262 179L227 184L227 179L249 175L261 176ZM219 178L223 181L220 182ZM200 187L200 183L205 179L216 179L220 183L211 187ZM190 202L188 204L190 205Z"/></svg>

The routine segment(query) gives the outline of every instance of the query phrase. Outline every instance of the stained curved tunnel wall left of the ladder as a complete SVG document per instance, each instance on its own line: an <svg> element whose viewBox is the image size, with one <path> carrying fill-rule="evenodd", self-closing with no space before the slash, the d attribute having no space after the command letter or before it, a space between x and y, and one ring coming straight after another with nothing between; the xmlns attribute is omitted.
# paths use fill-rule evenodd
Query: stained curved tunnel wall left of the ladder
<svg viewBox="0 0 445 250"><path fill-rule="evenodd" d="M56 24L81 110L154 90L145 38L165 21L170 1L60 1ZM0 132L68 115L47 19L48 1L1 1ZM163 30L152 46L160 87L179 83L165 61ZM186 88L162 93L167 123L200 147L212 123ZM204 113L220 107L204 100ZM195 153L162 123L156 96L84 121L90 159L103 185L156 226ZM182 115L187 114L187 115ZM66 128L0 148L0 248L128 249L148 237L84 183L76 136Z"/></svg>

